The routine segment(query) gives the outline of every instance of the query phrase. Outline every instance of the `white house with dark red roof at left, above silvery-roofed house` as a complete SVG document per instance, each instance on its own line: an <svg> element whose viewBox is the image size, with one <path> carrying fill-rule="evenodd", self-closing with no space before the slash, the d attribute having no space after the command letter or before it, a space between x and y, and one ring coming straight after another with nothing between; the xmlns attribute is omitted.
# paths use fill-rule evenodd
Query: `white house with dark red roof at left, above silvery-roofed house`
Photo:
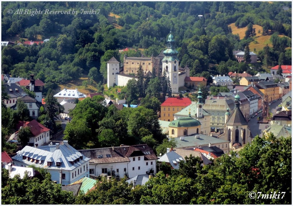
<svg viewBox="0 0 293 206"><path fill-rule="evenodd" d="M37 120L32 120L30 122L19 121L17 128L25 128L30 127L30 132L32 133L32 137L29 138L29 143L31 146L38 148L45 143L50 142L50 129L46 128L44 125L37 122ZM14 133L14 137L17 138L18 131Z"/></svg>

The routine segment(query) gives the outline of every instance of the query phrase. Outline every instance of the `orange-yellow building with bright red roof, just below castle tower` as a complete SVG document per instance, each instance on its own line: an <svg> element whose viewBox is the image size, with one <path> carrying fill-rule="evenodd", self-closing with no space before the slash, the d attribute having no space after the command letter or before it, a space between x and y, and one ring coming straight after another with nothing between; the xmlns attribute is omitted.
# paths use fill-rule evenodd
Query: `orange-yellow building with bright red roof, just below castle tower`
<svg viewBox="0 0 293 206"><path fill-rule="evenodd" d="M187 97L169 97L161 104L161 120L172 121L174 119L173 114L183 110L191 104L191 100Z"/></svg>

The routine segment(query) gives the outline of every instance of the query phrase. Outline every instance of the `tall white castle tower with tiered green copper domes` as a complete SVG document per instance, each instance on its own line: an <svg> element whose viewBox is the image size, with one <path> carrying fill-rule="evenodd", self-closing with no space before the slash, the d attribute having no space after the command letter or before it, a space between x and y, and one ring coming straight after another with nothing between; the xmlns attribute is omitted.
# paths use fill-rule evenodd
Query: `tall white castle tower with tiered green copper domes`
<svg viewBox="0 0 293 206"><path fill-rule="evenodd" d="M167 40L167 49L163 51L165 55L162 63L163 69L166 71L166 75L170 78L171 81L171 90L172 93L178 93L179 88L179 60L177 58L178 51L175 49L175 40L172 32L168 36Z"/></svg>

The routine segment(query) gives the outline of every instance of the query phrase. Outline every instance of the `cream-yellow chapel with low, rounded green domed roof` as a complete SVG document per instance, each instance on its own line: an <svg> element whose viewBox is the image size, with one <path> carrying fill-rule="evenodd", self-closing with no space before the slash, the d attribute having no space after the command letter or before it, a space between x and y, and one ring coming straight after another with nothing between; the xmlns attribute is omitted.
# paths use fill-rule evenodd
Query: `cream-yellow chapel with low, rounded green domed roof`
<svg viewBox="0 0 293 206"><path fill-rule="evenodd" d="M200 133L200 121L189 117L179 117L169 124L169 137L190 136Z"/></svg>

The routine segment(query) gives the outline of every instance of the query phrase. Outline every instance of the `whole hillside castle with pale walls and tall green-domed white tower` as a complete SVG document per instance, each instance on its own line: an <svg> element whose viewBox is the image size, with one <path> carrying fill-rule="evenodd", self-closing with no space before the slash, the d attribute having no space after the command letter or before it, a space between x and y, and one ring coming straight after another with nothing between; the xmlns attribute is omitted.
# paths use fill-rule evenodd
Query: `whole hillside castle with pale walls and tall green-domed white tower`
<svg viewBox="0 0 293 206"><path fill-rule="evenodd" d="M108 88L114 85L126 86L130 79L137 79L135 75L138 73L139 65L142 66L145 76L150 76L153 68L156 70L157 76L162 76L163 72L166 71L166 75L171 81L172 93L178 93L178 89L185 85L197 85L198 82L196 81L198 80L190 78L188 66L185 65L184 68L179 67L178 51L175 48L175 40L171 31L166 42L167 49L162 50L156 57L153 55L151 57L145 57L144 55L141 57L127 57L124 55L123 67L120 67L120 62L112 57L107 62ZM206 79L203 78L204 80Z"/></svg>

